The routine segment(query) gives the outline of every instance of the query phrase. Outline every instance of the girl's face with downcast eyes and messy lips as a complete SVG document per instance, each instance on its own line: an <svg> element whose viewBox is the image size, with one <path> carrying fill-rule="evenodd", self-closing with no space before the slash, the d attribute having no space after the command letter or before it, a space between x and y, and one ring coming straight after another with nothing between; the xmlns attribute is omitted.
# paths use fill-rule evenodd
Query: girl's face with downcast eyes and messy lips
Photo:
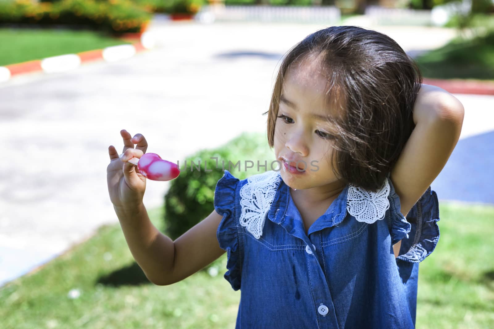
<svg viewBox="0 0 494 329"><path fill-rule="evenodd" d="M339 181L329 163L336 133L325 119L331 115L324 99L327 81L317 67L309 63L288 70L276 118L275 155L283 181L293 189Z"/></svg>

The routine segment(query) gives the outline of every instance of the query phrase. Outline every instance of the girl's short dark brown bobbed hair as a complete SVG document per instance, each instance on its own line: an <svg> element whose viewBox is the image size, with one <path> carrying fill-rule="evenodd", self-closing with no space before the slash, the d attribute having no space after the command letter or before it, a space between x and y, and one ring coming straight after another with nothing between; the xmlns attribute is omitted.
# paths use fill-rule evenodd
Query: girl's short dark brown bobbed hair
<svg viewBox="0 0 494 329"><path fill-rule="evenodd" d="M420 70L396 41L376 31L331 26L310 34L284 57L269 110L263 113L268 114L271 148L284 78L304 61L320 64L319 74L327 77L328 110L338 114L330 119L338 132L330 159L333 163L336 157L334 174L377 191L415 127L412 110L422 84Z"/></svg>

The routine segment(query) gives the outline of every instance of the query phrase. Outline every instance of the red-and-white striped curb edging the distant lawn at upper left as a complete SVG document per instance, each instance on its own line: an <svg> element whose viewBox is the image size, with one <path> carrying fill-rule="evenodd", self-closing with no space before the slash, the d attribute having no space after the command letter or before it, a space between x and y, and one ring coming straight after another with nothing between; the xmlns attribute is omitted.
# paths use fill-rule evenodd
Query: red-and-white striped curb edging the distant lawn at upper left
<svg viewBox="0 0 494 329"><path fill-rule="evenodd" d="M152 49L155 45L154 37L144 32L138 42L106 47L104 49L89 50L78 54L65 54L29 61L19 64L0 66L0 82L8 81L12 76L43 71L46 73L66 72L76 69L84 62L105 60L115 62L130 58L136 53Z"/></svg>

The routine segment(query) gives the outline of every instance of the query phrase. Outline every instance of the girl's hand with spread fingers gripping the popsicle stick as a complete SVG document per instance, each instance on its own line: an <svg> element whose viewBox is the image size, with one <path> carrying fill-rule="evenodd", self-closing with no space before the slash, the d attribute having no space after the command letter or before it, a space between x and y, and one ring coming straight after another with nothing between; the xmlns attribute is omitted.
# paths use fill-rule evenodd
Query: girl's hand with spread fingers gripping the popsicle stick
<svg viewBox="0 0 494 329"><path fill-rule="evenodd" d="M142 204L144 191L146 190L146 178L139 173L137 166L127 162L132 157L140 158L148 143L141 134L136 134L132 139L124 129L120 131L124 139L124 156L119 158L119 153L114 146L108 147L110 164L106 168L106 180L108 193L114 207L125 211L137 210ZM137 147L134 148L134 144Z"/></svg>

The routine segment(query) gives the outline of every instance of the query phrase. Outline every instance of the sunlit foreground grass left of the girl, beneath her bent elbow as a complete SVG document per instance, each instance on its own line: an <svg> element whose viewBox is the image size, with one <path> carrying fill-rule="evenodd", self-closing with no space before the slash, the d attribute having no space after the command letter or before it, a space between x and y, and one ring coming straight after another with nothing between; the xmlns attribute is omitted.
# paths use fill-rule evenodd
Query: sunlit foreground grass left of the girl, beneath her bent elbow
<svg viewBox="0 0 494 329"><path fill-rule="evenodd" d="M162 229L162 210L148 211ZM111 259L110 259L111 257ZM226 268L226 253L218 260ZM120 224L98 233L0 289L2 329L234 328L240 291L200 271L171 286L148 281L132 258ZM72 289L80 297L71 299Z"/></svg>

